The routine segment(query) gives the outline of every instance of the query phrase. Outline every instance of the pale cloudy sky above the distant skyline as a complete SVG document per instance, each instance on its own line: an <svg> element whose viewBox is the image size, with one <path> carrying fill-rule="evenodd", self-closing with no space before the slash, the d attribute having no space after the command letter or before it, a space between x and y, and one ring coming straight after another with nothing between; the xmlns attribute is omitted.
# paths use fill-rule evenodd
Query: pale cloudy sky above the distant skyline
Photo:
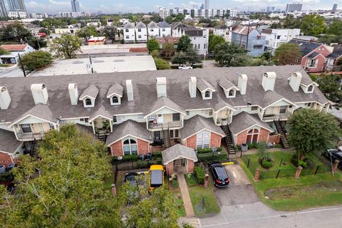
<svg viewBox="0 0 342 228"><path fill-rule="evenodd" d="M28 12L48 14L71 11L71 1L68 0L24 0ZM235 7L240 11L256 11L265 9L266 6L275 6L276 9L285 9L287 2L294 0L210 0L209 8L222 9ZM182 0L79 0L81 11L103 13L118 12L151 12L158 11L159 7L192 9L193 5L200 6L201 1L182 1ZM303 9L332 9L334 3L338 4L338 9L342 9L342 0L296 0L303 3Z"/></svg>

